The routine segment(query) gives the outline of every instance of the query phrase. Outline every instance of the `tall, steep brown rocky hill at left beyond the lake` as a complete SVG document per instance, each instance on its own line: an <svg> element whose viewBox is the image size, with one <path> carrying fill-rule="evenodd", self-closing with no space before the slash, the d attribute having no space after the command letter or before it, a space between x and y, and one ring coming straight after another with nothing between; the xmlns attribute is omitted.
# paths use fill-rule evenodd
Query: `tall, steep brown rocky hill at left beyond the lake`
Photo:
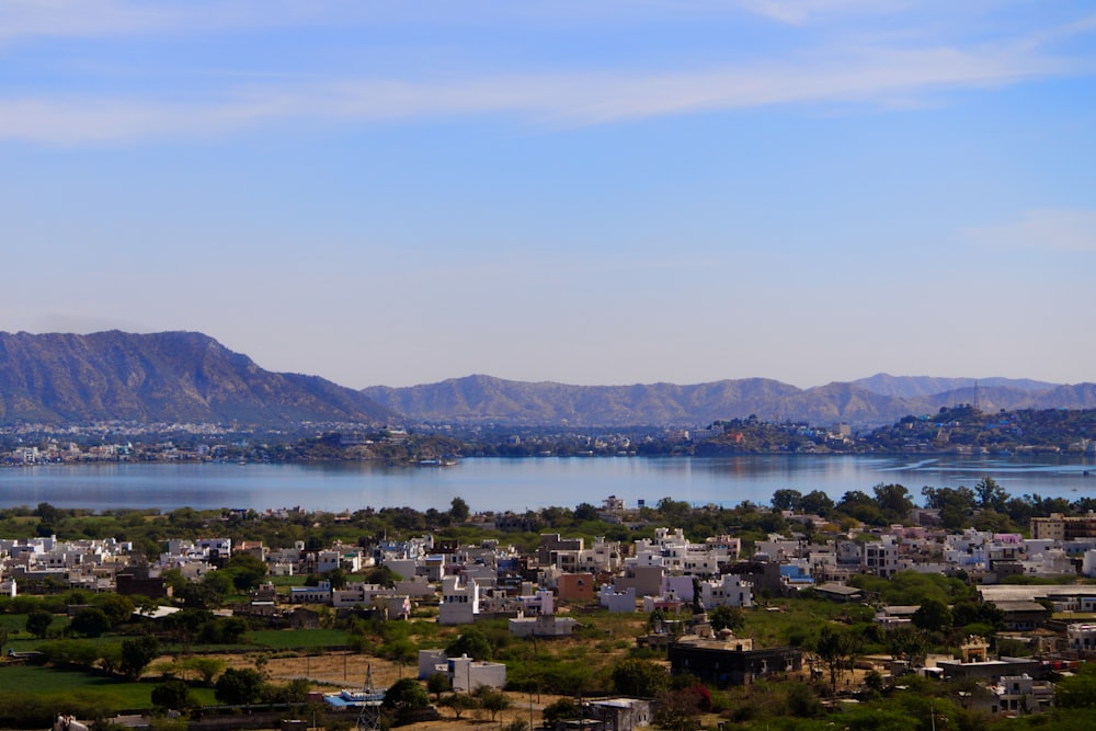
<svg viewBox="0 0 1096 731"><path fill-rule="evenodd" d="M379 423L391 412L316 376L263 370L196 332L0 333L0 423Z"/></svg>

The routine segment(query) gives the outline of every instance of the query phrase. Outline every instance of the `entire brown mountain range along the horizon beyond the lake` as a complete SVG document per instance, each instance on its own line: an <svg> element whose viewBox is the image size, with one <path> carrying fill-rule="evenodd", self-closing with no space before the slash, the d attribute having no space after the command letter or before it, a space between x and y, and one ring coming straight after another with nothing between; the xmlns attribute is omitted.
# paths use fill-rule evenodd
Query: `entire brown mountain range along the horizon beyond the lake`
<svg viewBox="0 0 1096 731"><path fill-rule="evenodd" d="M978 403L983 411L1094 409L1096 384L879 374L800 389L766 378L678 386L572 386L467 376L354 390L272 373L195 332L0 333L0 423L99 421L278 426L300 422L698 425L720 419L893 423Z"/></svg>

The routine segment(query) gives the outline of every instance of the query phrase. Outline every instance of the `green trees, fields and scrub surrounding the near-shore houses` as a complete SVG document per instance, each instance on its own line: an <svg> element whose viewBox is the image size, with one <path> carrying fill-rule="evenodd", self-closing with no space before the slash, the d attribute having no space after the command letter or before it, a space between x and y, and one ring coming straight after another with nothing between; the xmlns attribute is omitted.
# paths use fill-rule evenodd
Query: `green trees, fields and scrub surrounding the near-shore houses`
<svg viewBox="0 0 1096 731"><path fill-rule="evenodd" d="M871 529L865 524L892 526L901 522L913 506L911 496L902 486L880 484L872 492L874 496L855 491L836 504L831 501L813 505L819 514L802 524L803 529L811 527L809 540L822 541L820 546L826 540L841 540L854 548L867 549L880 547L883 537L893 538L893 534L884 536L881 533L890 528ZM1066 501L1048 503L1038 495L1011 499L989 478L981 480L973 490L926 488L923 494L926 502L939 503L935 509L944 524L936 532L939 542L925 546L938 545L940 551L946 539L969 540L978 533L975 528L987 540L996 540L1001 534L994 529L1008 525L1007 522L1014 519L1014 512L1017 516L1025 512L1030 516L1034 511L1042 513L1043 509L1052 507L1081 513L1084 507L1081 501L1091 500L1078 499L1074 505ZM602 519L598 511L589 504L574 511L543 511L539 518L564 534L600 537L615 534L621 541L626 537L642 536L643 540L637 540L635 546L636 555L653 556L640 550L641 544L651 546L644 542L651 530L670 540L685 540L684 534L678 533L682 529L670 532L654 527L660 524L684 525L684 530L698 538L721 536L720 544L728 542L729 536L723 534L734 533L743 539L750 536L760 545L766 533L791 533L789 526L800 523L795 516L802 515L811 499L812 495L795 491L777 491L772 509L743 504L727 510L692 509L666 498L657 509L635 512L637 518L649 516L658 523ZM106 526L110 533L124 528L134 537L144 536L136 547L141 548L146 560L162 550L164 537L173 535L169 530L182 535L231 534L233 538L240 536L238 547L241 548L231 552L220 568L206 571L197 581L187 580L178 568L165 570L158 581L161 589L170 585L173 595L162 599L160 605L174 604L174 608L181 610L157 619L133 616L136 606L151 608L155 604L151 601L132 599L115 593L66 590L62 584L50 583L45 578L39 582L43 591L39 596L0 597L0 612L3 613L0 614L0 629L3 630L0 647L11 646L20 653L42 652L55 669L0 667L0 719L4 724L19 728L39 728L42 713L48 718L59 708L88 712L84 718L91 719L109 718L109 713L123 708L183 707L179 703L191 708L255 701L304 704L311 690L361 688L370 673L373 686L378 689L392 692L401 683L410 684L416 697L407 701L414 704L409 707L418 708L433 701L442 709L447 723L457 727L484 718L507 727L527 723L530 711L536 723L539 718L549 716L549 711L560 717L557 713L560 707L571 704L576 696L590 699L610 694L658 699L662 709L669 711L662 713L660 710L662 716L657 723L671 731L697 731L701 726L715 728L717 723L732 729L761 729L769 724L785 729L823 729L829 723L837 723L850 729L907 731L918 728L927 731L931 727L924 722L926 718L941 729L1013 729L1036 723L1026 713L1023 718L1008 719L1002 712L994 711L991 716L985 709L968 708L964 704L970 703L975 693L981 694L982 700L990 699L990 690L985 687L964 681L934 681L917 673L902 674L906 669L928 667L923 662L928 655L954 658L971 636L984 637L986 647L992 647L1000 655L1030 658L1037 651L1023 633L1005 631L1003 610L979 597L975 583L963 570L948 572L950 575L936 571L899 571L886 578L855 573L847 578L846 589L859 592L864 599L849 602L824 598L832 595L824 592L824 587L804 589L783 597L774 596L766 589L754 594L756 602L752 606L713 606L704 613L696 605L681 602L669 603L676 608L671 609L667 605L667 608L650 613L635 612L635 601L629 612L621 613L606 610L596 599L562 602L557 614L576 619L574 633L532 640L513 636L507 620L498 616L475 623L439 624L439 613L446 606L459 608L459 603L443 604L439 609L436 592L431 592L406 620L386 619L385 613L364 603L341 613L322 605L300 606L299 602L288 601L290 586L312 591L320 581L345 584L352 580L395 586L391 576L387 575L392 570L383 564L350 575L336 568L319 575L313 569L311 573L278 576L271 586L264 583L269 580L267 566L242 550L244 542L252 544L249 548L254 549L259 538L267 539L271 545L299 540L304 546L311 541L316 550L320 550L332 545L333 539L344 537L347 542L336 542L341 546L338 556L345 558L345 551L373 545L369 541L375 539L370 536L384 535L387 541L399 532L401 538L410 541L412 538L419 540L419 532L426 529L432 534L436 532L437 539L444 542L444 546L436 546L438 550L456 551L461 546L468 549L464 566L473 571L477 568L471 558L475 552L493 551L500 547L500 541L526 542L525 552L530 553L538 538L547 538L549 542L559 538L558 534L538 535L528 528L521 533L492 532L473 521L460 499L454 499L445 514L438 511L418 514L410 510L362 512L340 521L330 515L304 513L264 518L240 512L201 514L194 511L174 511L169 515L129 512L93 516L60 511L48 504L41 504L33 513L3 513L4 524L23 535L38 533L42 538L34 540L50 544L56 540L52 535L55 530L101 536L106 533L102 529ZM1055 519L1066 518L1059 516ZM1075 519L1088 518L1077 515ZM946 528L952 521L963 530L961 535L947 534ZM962 527L971 523L973 528ZM859 544L849 535L853 532L857 533ZM798 538L783 541L770 538L767 542L772 548L758 551L757 556L774 555L779 542L788 544L788 550L798 550L807 540L802 536L799 534ZM1004 538L1006 547L1014 547L1021 539L1018 535L1005 535ZM687 541L683 545L687 547ZM33 547L24 548L31 550ZM623 548L628 548L627 544L615 547L616 552L606 550L604 555L620 558ZM506 549L513 550L513 547ZM301 556L307 552L296 548L294 551ZM967 555L963 551L963 556ZM1063 575L1062 579L1069 579L1076 584L1076 592L1084 593L1075 572L1071 573L1072 576ZM699 580L694 578L693 581L695 590ZM282 604L294 607L295 616L298 609L304 609L301 614L312 617L310 628L262 628L269 626L269 617L251 612L255 607L250 605L248 594L256 589L271 591L275 596L281 594ZM912 614L912 624L904 628L888 631L876 620L877 610L882 607L910 609L912 605L920 605L920 608ZM229 606L242 614L226 616L227 613L214 612ZM1040 616L1051 617L1052 607L1036 605L1036 609ZM690 674L699 675L705 670L699 664L671 674L666 670L664 650L650 644L641 647L638 642L640 636L649 632L657 636L660 630L655 628L661 627L660 642L673 647L678 632L688 631L686 628L693 624L704 625L703 621L694 623L698 616L706 616L712 630L730 629L733 636L749 638L756 647L802 651L802 671L789 670L795 665L781 662L750 677L744 686L722 687L726 683L720 683L719 687L706 687ZM722 627L717 625L717 618ZM1071 621L1093 618L1073 615L1071 610ZM286 625L283 621L279 626ZM1047 637L1044 632L1042 639ZM499 694L502 700L490 698L491 706L486 698L472 700L473 705L479 704L478 710L454 705L450 701L464 694L415 679L418 653L426 649L444 649L449 658L467 654L504 664L507 693ZM895 663L905 663L907 667L892 673ZM73 672L73 669L82 670ZM1053 703L1057 708L1044 706L1040 700L1041 712L1031 717L1038 718L1043 728L1087 728L1096 715L1096 672L1093 672L1096 664L1092 670L1071 664L1069 670L1070 674L1055 676ZM232 683L225 683L226 678ZM248 683L252 683L251 687L243 687ZM427 689L433 698L426 696ZM322 718L324 707L316 704L312 708ZM331 715L323 723L338 728L345 719L345 716L339 719ZM510 728L509 731L521 730Z"/></svg>

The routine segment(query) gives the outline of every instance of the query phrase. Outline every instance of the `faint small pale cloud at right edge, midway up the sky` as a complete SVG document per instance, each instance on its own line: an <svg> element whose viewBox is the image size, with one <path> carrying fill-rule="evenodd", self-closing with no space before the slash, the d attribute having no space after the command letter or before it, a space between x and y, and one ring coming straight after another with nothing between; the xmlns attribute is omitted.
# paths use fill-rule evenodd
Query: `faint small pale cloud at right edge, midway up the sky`
<svg viewBox="0 0 1096 731"><path fill-rule="evenodd" d="M1096 210L1029 210L1014 221L970 228L964 237L992 249L1096 252Z"/></svg>

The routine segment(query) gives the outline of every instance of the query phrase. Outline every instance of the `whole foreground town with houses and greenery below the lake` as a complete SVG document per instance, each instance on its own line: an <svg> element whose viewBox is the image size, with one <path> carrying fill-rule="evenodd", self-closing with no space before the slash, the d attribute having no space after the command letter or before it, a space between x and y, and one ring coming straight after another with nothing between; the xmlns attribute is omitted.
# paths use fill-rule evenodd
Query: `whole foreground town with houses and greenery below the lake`
<svg viewBox="0 0 1096 731"><path fill-rule="evenodd" d="M924 507L902 486L874 493L785 490L732 510L609 496L526 514L472 514L459 498L425 514L7 509L0 672L37 673L30 697L47 695L0 692L0 712L44 722L57 698L41 673L79 669L146 700L67 712L136 728L169 710L205 728L214 706L259 703L319 709L330 728L369 709L376 723L437 722L438 707L456 721L509 711L514 731L834 715L859 728L917 704L943 728L1087 718L1087 502L1040 503L1053 512L997 530L978 526L1024 500L989 478L926 488ZM293 648L287 665L272 648ZM321 677L334 652L342 677ZM384 683L351 682L351 656Z"/></svg>

